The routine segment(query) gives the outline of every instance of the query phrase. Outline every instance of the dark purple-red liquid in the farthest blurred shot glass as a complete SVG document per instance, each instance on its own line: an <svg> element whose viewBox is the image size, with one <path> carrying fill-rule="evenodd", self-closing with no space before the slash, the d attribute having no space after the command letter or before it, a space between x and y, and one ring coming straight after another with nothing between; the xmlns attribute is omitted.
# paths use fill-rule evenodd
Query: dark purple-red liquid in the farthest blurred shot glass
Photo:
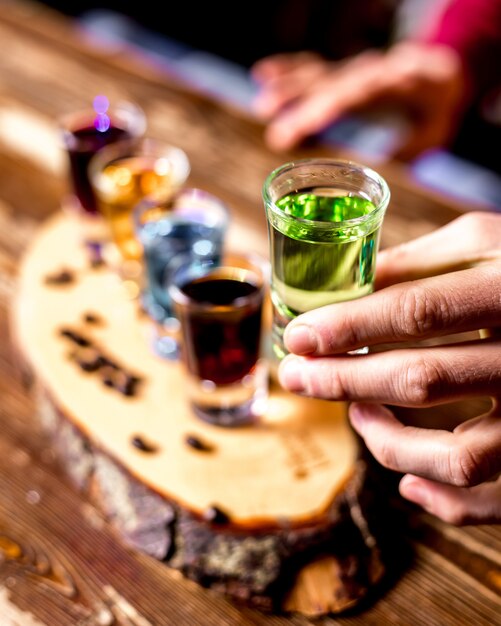
<svg viewBox="0 0 501 626"><path fill-rule="evenodd" d="M93 123L71 131L71 137L67 139L70 176L73 191L83 210L87 213L98 212L97 201L87 173L91 158L104 146L122 139L131 138L129 131L119 126L114 126L113 121L111 121L111 126L108 130L104 132L97 130Z"/></svg>

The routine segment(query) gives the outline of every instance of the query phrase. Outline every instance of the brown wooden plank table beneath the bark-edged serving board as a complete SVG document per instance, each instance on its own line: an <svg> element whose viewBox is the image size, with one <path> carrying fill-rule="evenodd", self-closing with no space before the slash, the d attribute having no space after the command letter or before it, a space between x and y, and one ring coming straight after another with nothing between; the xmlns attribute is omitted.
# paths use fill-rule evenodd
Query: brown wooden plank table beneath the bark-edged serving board
<svg viewBox="0 0 501 626"><path fill-rule="evenodd" d="M19 260L39 224L60 210L66 189L57 116L99 93L137 101L149 134L186 150L191 183L232 207L235 232L245 233L238 245L265 254L268 172L289 157L352 155L318 146L274 154L262 127L241 110L190 91L131 50L90 47L70 22L36 4L0 1L0 42L0 626L501 624L500 526L448 526L395 495L408 557L370 602L312 621L242 609L180 578L123 545L76 493L39 430L8 327ZM383 246L472 208L418 187L401 165L376 167L392 190ZM478 406L454 411L474 415Z"/></svg>

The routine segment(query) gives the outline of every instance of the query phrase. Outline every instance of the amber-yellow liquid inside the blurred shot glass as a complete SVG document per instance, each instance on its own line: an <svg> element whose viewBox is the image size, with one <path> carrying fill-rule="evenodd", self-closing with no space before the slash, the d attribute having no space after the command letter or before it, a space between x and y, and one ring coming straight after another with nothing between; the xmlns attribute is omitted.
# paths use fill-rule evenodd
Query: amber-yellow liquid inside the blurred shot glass
<svg viewBox="0 0 501 626"><path fill-rule="evenodd" d="M146 196L156 202L168 200L177 186L168 159L154 156L118 159L100 173L99 209L124 261L142 259L142 247L134 234L134 207Z"/></svg>

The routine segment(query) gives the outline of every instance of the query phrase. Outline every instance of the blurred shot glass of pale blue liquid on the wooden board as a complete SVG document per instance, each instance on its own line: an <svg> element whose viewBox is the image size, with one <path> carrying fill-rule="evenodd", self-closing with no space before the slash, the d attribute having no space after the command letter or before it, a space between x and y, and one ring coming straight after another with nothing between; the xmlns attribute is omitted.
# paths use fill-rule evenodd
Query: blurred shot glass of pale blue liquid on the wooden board
<svg viewBox="0 0 501 626"><path fill-rule="evenodd" d="M142 303L153 322L155 351L177 359L179 323L168 290L181 262L219 262L230 222L230 209L218 197L194 187L171 199L150 198L134 209L134 229L143 248Z"/></svg>

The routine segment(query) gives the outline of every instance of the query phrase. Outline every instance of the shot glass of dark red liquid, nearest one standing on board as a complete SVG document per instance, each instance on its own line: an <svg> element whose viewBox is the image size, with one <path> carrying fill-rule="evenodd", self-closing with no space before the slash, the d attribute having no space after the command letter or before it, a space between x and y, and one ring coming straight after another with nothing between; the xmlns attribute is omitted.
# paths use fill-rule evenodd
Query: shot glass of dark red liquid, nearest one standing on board
<svg viewBox="0 0 501 626"><path fill-rule="evenodd" d="M243 426L266 410L267 286L267 265L255 255L225 253L219 264L188 262L173 273L169 293L181 324L189 401L206 422Z"/></svg>

